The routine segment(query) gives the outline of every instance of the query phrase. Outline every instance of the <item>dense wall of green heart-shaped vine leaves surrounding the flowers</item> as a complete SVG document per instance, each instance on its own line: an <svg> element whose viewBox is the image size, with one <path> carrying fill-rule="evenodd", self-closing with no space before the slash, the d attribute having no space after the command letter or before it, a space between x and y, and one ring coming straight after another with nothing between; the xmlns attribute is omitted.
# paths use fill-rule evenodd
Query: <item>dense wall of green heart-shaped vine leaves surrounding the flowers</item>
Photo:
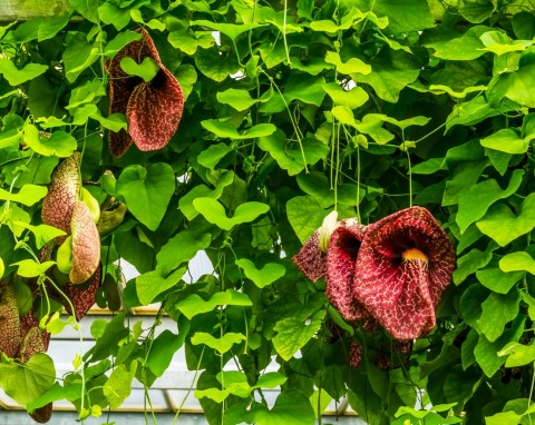
<svg viewBox="0 0 535 425"><path fill-rule="evenodd" d="M52 170L79 151L101 212L126 205L100 231L96 294L114 310L121 295L126 309L96 322L95 346L61 379L43 353L4 355L0 386L11 397L29 412L68 399L81 418L98 416L133 379L150 387L185 346L212 424L311 424L342 396L370 424L531 423L533 3L70 6L0 28L0 275L20 317L31 309L52 334L84 326L55 314L72 306L58 296L55 257L42 255L61 233L41 221ZM165 148L114 158L109 134L127 121L108 116L107 63L138 28L179 81L183 117ZM125 72L150 81L152 65ZM312 284L291 258L334 209L368 225L411 205L446 229L457 264L437 326L407 354L382 328L344 323L324 280ZM214 273L186 283L200 250ZM140 273L124 291L120 259ZM8 295L2 334L19 320ZM152 303L176 333L127 317ZM265 373L272 359L280 369ZM269 408L262 388L274 387Z"/></svg>

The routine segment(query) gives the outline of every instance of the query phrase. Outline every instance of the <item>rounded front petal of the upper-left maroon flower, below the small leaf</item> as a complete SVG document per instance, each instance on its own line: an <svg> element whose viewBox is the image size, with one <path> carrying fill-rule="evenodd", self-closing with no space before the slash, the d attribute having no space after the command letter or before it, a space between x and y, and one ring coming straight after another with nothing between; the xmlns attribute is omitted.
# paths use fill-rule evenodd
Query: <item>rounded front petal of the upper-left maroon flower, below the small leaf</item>
<svg viewBox="0 0 535 425"><path fill-rule="evenodd" d="M128 101L128 131L140 150L166 146L181 122L184 107L182 88L175 76L160 68L155 82L137 85Z"/></svg>

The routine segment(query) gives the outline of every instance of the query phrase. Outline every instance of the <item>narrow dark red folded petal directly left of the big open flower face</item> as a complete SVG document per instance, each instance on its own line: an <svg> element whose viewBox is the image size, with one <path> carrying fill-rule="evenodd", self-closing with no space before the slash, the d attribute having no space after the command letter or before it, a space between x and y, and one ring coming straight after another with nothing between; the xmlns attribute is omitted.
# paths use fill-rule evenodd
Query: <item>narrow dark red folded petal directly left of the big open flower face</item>
<svg viewBox="0 0 535 425"><path fill-rule="evenodd" d="M332 233L327 251L325 295L348 322L370 317L353 297L354 267L364 234L366 227L356 219L342 220Z"/></svg>

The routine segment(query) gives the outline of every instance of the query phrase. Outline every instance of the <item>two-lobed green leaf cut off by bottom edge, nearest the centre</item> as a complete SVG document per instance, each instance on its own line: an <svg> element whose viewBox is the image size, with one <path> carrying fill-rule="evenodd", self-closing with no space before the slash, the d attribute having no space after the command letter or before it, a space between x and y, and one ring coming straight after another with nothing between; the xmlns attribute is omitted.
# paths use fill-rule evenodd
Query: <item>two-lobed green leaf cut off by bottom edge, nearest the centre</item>
<svg viewBox="0 0 535 425"><path fill-rule="evenodd" d="M256 403L246 414L247 423L257 425L311 425L314 423L314 409L307 396L298 389L286 389L279 394L270 411Z"/></svg>

